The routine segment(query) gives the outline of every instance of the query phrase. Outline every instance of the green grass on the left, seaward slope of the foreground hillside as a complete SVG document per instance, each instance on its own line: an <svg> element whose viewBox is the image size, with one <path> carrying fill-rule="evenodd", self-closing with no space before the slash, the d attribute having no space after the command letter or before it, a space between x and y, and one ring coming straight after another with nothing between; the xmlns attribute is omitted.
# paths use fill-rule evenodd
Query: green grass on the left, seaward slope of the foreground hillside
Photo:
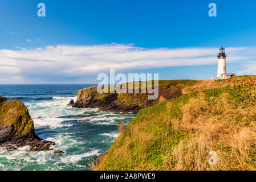
<svg viewBox="0 0 256 182"><path fill-rule="evenodd" d="M191 93L173 99L175 107L170 112L166 109L166 102L140 110L112 144L107 160L99 169L164 169L162 156L171 154L173 147L187 137L173 129L170 119L181 119L180 107L196 95L197 93Z"/></svg>

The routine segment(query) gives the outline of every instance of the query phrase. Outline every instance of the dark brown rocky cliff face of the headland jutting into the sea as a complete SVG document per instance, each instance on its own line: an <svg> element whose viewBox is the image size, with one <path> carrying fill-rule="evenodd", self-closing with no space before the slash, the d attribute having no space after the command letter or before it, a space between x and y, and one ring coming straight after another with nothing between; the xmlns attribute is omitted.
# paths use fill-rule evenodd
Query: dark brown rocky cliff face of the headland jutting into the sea
<svg viewBox="0 0 256 182"><path fill-rule="evenodd" d="M182 88L185 85L192 84L192 80L173 80L159 82L159 97L157 100L148 100L148 93L98 93L97 87L84 88L78 92L78 100L73 107L99 108L105 111L115 112L137 112L148 106L176 98L182 95ZM134 83L133 83L134 84ZM141 86L141 85L140 85ZM128 88L128 86L127 86Z"/></svg>

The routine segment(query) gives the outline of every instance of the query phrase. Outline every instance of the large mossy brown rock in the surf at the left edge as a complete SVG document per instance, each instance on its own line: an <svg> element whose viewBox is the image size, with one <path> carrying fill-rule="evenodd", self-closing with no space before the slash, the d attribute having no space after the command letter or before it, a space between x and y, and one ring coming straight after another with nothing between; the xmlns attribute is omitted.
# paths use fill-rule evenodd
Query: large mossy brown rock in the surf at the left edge
<svg viewBox="0 0 256 182"><path fill-rule="evenodd" d="M0 146L7 150L30 146L31 151L51 150L54 142L40 139L27 107L18 100L7 101L0 96Z"/></svg>

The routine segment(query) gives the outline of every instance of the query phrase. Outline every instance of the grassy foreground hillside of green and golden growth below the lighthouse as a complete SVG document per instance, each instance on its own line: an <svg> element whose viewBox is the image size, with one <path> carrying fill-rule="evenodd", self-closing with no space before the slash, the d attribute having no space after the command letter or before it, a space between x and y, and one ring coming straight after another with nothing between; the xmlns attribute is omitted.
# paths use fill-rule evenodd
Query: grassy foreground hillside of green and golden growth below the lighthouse
<svg viewBox="0 0 256 182"><path fill-rule="evenodd" d="M199 81L140 110L95 169L256 169L255 85L255 76ZM210 151L217 165L208 163Z"/></svg>

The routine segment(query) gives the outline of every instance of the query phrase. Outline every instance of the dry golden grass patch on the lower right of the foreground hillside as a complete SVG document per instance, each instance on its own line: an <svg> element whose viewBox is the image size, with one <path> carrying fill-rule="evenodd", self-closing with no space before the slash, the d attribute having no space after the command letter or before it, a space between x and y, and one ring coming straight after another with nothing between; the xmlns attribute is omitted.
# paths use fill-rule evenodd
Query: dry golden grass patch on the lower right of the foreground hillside
<svg viewBox="0 0 256 182"><path fill-rule="evenodd" d="M181 121L173 119L175 130L189 135L174 147L172 154L165 156L168 170L255 170L251 160L256 144L255 119L243 117L233 122L232 115L255 114L256 107L233 109L235 102L222 94L217 104L209 104L201 93L182 107ZM171 109L170 104L166 105ZM204 109L206 112L202 112ZM221 114L220 114L221 113ZM209 152L217 152L217 165L209 165ZM255 155L255 154L254 154ZM174 166L170 165L175 163Z"/></svg>

